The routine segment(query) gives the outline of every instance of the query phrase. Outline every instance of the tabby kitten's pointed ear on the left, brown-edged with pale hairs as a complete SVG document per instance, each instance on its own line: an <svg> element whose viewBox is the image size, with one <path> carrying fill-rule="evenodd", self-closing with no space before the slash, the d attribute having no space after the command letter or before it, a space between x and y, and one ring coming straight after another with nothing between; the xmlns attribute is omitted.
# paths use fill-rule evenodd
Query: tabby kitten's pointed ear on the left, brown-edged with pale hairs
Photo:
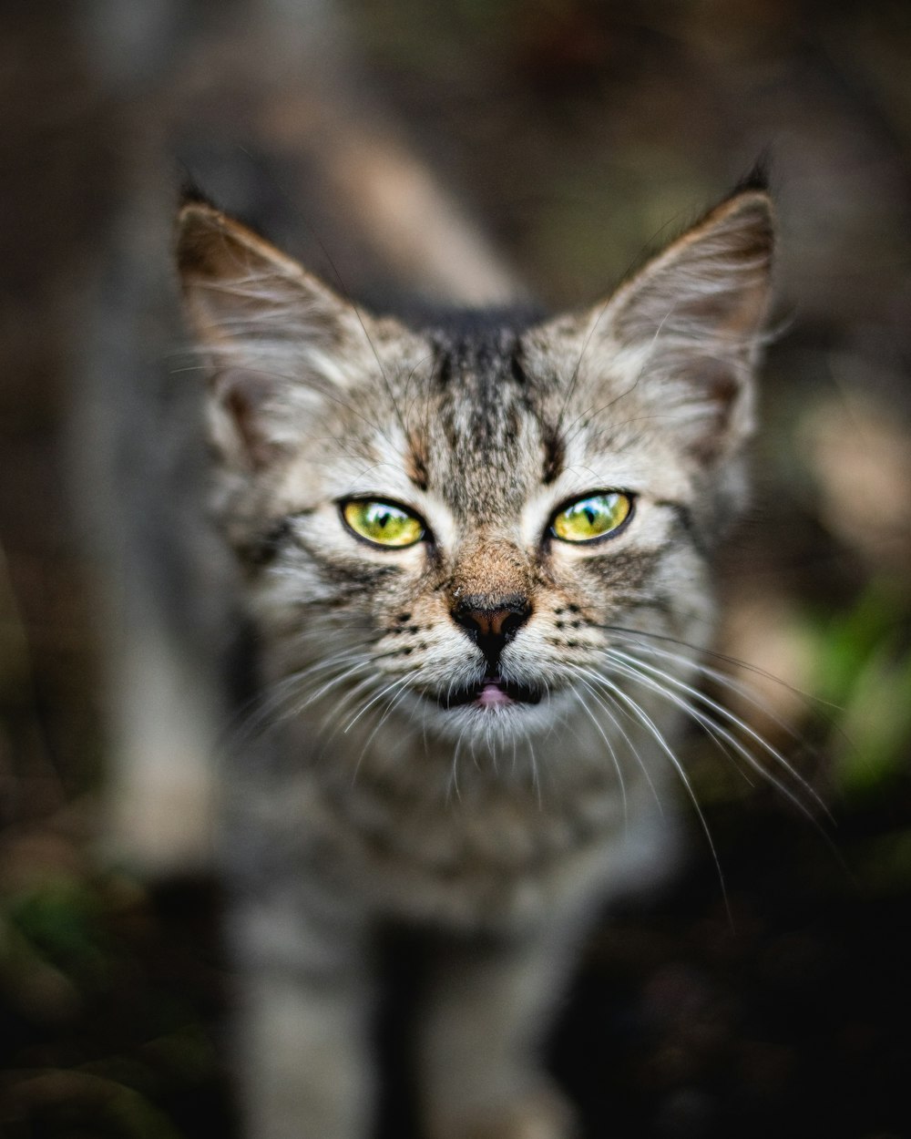
<svg viewBox="0 0 911 1139"><path fill-rule="evenodd" d="M211 376L215 444L236 465L268 466L299 436L302 417L375 367L368 318L205 202L180 210L177 256Z"/></svg>

